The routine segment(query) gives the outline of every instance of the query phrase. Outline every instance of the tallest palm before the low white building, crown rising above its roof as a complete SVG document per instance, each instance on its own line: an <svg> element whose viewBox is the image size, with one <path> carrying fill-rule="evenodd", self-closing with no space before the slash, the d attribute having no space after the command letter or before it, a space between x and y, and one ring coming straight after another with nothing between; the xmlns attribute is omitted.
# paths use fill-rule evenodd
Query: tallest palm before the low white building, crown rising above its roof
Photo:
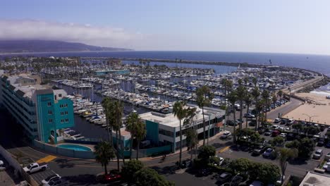
<svg viewBox="0 0 330 186"><path fill-rule="evenodd" d="M211 101L214 97L214 95L211 92L211 89L207 87L206 85L199 87L196 90L196 96L197 96L197 105L202 109L202 115L203 115L203 146L205 145L205 118L204 118L204 106L211 105ZM209 143L209 138L207 137L207 144Z"/></svg>

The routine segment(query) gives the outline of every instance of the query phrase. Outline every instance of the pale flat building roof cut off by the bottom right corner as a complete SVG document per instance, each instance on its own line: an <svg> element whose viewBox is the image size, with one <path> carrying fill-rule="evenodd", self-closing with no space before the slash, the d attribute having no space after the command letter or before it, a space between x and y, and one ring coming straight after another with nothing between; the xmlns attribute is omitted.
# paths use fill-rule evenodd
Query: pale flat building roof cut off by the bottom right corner
<svg viewBox="0 0 330 186"><path fill-rule="evenodd" d="M330 176L319 173L308 172L299 186L323 186L329 185Z"/></svg>

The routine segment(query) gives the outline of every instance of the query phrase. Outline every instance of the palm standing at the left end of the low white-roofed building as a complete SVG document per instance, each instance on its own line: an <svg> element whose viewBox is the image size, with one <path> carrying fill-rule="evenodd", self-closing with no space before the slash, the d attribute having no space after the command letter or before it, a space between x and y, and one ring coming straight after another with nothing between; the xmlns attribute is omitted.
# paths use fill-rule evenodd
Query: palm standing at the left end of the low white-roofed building
<svg viewBox="0 0 330 186"><path fill-rule="evenodd" d="M133 140L136 133L140 130L145 130L145 123L142 122L140 116L136 112L130 113L126 121L126 130L130 132L130 159L132 159Z"/></svg>

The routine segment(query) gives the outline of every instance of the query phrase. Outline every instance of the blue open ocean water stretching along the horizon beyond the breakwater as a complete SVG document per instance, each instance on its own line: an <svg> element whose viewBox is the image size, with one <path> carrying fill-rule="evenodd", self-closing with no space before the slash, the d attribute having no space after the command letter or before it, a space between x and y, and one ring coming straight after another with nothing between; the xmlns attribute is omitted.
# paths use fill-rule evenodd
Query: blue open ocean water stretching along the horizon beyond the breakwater
<svg viewBox="0 0 330 186"><path fill-rule="evenodd" d="M161 58L192 61L221 61L232 63L257 63L305 68L330 75L330 56L310 54L274 54L220 51L88 51L88 52L51 52L32 54L5 54L2 56L83 56L116 58Z"/></svg>

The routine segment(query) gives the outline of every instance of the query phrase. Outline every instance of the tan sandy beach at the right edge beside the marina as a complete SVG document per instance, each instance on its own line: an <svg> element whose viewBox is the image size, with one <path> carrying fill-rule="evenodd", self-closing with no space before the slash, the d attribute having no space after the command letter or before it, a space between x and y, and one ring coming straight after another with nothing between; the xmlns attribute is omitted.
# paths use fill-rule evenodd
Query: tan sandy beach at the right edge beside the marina
<svg viewBox="0 0 330 186"><path fill-rule="evenodd" d="M306 99L307 102L299 106L297 109L287 113L283 118L293 118L295 120L306 121L311 120L314 123L330 125L330 99L326 99L324 94L312 92L298 93L295 95Z"/></svg>

